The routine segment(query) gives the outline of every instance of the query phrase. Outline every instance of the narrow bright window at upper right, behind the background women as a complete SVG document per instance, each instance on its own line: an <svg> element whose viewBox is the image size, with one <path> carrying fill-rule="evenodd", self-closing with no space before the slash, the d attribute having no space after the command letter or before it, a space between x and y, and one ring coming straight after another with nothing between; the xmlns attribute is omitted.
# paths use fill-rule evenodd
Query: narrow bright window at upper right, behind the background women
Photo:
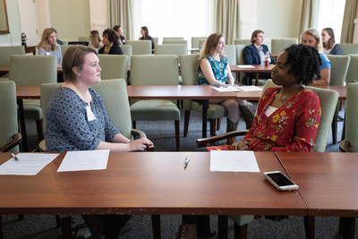
<svg viewBox="0 0 358 239"><path fill-rule="evenodd" d="M343 15L345 13L345 1L325 0L320 1L319 20L317 30L331 28L335 32L336 42L341 39Z"/></svg>

